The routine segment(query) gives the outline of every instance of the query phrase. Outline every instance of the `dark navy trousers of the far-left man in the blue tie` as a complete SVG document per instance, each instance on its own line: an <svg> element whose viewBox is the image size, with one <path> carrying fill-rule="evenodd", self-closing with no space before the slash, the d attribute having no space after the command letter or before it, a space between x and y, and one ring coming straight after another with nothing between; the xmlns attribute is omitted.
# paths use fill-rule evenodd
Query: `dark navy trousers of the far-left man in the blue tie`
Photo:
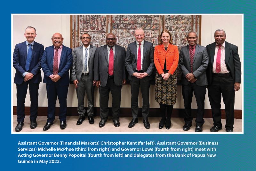
<svg viewBox="0 0 256 171"><path fill-rule="evenodd" d="M39 83L33 83L28 80L20 85L16 84L17 88L17 122L24 122L25 119L25 99L29 89L30 96L30 121L36 121L38 109L38 89Z"/></svg>

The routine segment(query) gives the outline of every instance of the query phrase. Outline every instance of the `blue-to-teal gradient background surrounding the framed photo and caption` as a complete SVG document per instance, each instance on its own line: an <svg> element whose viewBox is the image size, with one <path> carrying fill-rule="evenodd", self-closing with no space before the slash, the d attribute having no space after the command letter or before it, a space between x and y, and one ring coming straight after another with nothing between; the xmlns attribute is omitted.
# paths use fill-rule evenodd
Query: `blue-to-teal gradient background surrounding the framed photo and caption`
<svg viewBox="0 0 256 171"><path fill-rule="evenodd" d="M35 170L255 170L255 1L8 1L1 21L2 168ZM244 134L11 134L12 13L244 13ZM233 35L236 36L236 35ZM237 40L242 41L242 40ZM240 56L242 58L242 56ZM253 140L254 139L254 140ZM19 164L18 141L209 141L215 158L77 158L61 164Z"/></svg>

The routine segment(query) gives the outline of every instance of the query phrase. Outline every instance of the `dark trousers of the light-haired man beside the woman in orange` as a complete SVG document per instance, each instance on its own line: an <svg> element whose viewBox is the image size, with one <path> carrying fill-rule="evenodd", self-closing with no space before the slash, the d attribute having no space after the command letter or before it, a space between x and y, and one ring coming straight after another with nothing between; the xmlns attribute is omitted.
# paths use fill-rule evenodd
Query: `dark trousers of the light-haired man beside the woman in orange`
<svg viewBox="0 0 256 171"><path fill-rule="evenodd" d="M132 77L133 80L130 81L131 85L131 106L132 106L132 118L136 119L138 117L138 98L139 98L139 88L141 89L142 94L142 117L143 120L148 120L149 114L149 87L150 87L150 80L145 80L145 78L136 78Z"/></svg>

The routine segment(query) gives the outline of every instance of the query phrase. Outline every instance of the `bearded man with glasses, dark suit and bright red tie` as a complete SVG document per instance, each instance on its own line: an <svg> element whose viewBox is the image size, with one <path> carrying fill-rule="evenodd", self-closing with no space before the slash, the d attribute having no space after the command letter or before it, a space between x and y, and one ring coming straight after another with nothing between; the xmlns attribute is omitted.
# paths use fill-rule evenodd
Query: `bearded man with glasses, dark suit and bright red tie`
<svg viewBox="0 0 256 171"><path fill-rule="evenodd" d="M109 33L106 36L107 45L96 49L94 59L94 80L100 88L100 123L103 127L108 119L109 90L112 94L112 120L119 127L122 84L126 83L125 48L116 45L116 36Z"/></svg>

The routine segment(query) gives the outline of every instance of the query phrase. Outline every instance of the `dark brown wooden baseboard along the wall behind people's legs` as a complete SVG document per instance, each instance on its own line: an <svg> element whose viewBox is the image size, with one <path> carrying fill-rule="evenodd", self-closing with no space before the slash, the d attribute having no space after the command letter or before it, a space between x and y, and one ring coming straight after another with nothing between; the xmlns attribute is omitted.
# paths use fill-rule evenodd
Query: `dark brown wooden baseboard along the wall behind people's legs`
<svg viewBox="0 0 256 171"><path fill-rule="evenodd" d="M58 116L59 108L56 107L56 116ZM30 107L25 107L25 115L29 115ZM192 109L192 116L196 117L196 110ZM173 109L172 110L172 117L184 117L184 109ZM109 113L111 114L111 108L109 108ZM149 111L149 117L160 117L160 109L159 108L150 108ZM221 110L221 118L225 119L225 110ZM16 112L16 106L13 106L13 115L17 115ZM46 116L47 115L47 107L39 107L38 108L38 116ZM94 115L100 116L100 108L94 108ZM68 107L67 108L67 116L78 116L77 114L77 108L76 107ZM120 116L126 116L131 117L132 116L132 110L131 108L121 108L120 109ZM139 108L139 117L141 117L141 108ZM205 109L204 110L204 118L212 118L212 111L211 109ZM242 119L242 110L235 110L235 118L236 119Z"/></svg>

